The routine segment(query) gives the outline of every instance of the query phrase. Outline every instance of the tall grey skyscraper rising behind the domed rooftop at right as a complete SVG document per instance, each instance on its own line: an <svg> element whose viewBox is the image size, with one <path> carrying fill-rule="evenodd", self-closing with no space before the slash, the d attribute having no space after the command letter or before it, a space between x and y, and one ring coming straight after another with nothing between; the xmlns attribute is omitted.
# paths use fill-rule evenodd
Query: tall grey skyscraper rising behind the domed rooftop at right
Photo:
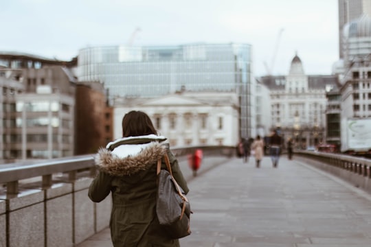
<svg viewBox="0 0 371 247"><path fill-rule="evenodd" d="M368 14L371 16L371 0L339 0L339 58L343 58L343 27L346 23Z"/></svg>

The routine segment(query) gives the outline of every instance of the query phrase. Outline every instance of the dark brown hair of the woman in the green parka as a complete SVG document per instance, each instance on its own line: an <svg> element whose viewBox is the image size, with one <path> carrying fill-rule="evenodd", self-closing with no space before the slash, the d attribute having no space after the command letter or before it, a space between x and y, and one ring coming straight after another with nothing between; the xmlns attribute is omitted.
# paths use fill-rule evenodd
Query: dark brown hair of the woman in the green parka
<svg viewBox="0 0 371 247"><path fill-rule="evenodd" d="M157 134L150 117L139 110L132 110L122 118L122 137Z"/></svg>

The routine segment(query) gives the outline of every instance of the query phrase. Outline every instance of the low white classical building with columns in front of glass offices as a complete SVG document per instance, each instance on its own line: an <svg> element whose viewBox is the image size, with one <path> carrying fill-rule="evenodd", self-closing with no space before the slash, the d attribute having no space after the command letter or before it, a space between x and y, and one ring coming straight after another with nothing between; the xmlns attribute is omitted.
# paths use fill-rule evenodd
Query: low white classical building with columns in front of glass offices
<svg viewBox="0 0 371 247"><path fill-rule="evenodd" d="M147 113L172 147L236 145L239 105L236 93L182 92L156 98L115 99L113 135L122 137L122 117L131 110Z"/></svg>

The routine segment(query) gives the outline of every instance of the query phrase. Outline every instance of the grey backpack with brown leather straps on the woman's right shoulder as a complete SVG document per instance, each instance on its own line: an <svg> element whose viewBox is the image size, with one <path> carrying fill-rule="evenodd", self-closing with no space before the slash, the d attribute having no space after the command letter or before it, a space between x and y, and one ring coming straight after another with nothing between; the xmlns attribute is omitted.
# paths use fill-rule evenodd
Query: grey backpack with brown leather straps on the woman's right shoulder
<svg viewBox="0 0 371 247"><path fill-rule="evenodd" d="M164 155L167 169L161 169L161 159L157 161L157 204L159 224L169 236L179 239L190 235L190 202L183 189L172 176L170 161Z"/></svg>

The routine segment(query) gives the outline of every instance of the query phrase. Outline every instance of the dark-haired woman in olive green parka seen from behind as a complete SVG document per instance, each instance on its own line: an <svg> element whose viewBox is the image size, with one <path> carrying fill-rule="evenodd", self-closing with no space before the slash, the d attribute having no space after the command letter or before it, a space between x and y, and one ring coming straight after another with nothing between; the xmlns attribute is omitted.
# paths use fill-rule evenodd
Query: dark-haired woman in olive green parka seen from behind
<svg viewBox="0 0 371 247"><path fill-rule="evenodd" d="M168 154L179 186L188 193L177 158L164 144L166 138L157 136L146 113L127 113L122 119L122 132L121 139L95 156L99 173L89 187L89 198L100 202L112 193L113 246L179 246L179 240L171 239L161 228L156 215L157 160L164 154Z"/></svg>

